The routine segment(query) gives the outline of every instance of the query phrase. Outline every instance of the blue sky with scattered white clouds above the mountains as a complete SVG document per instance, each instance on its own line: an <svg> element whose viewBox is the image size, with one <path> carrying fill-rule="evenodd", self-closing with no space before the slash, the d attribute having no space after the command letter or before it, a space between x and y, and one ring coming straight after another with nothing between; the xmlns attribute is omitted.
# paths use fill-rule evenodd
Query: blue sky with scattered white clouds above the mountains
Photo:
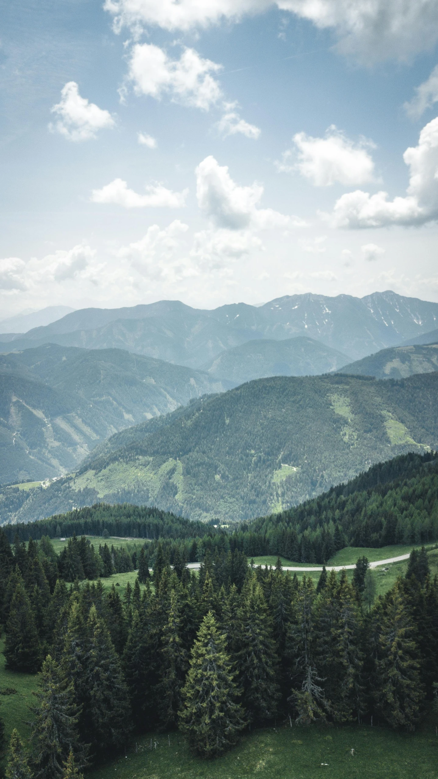
<svg viewBox="0 0 438 779"><path fill-rule="evenodd" d="M16 0L0 318L438 301L438 0Z"/></svg>

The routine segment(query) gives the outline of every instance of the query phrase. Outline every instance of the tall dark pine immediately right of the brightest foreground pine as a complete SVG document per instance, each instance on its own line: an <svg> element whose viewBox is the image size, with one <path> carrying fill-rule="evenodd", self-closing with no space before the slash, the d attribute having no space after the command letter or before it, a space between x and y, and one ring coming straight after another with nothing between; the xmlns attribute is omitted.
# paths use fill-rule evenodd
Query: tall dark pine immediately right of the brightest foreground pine
<svg viewBox="0 0 438 779"><path fill-rule="evenodd" d="M263 591L252 575L242 590L238 610L238 685L249 721L273 719L280 697L277 684L278 658L275 654L272 619Z"/></svg>

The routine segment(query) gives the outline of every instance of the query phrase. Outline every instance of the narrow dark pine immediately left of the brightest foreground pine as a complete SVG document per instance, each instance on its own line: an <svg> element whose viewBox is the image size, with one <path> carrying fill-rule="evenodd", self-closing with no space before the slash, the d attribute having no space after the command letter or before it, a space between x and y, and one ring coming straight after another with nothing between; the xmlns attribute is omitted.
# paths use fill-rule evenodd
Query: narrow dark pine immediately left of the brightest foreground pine
<svg viewBox="0 0 438 779"><path fill-rule="evenodd" d="M182 645L182 623L178 595L171 592L171 608L161 642L160 683L157 686L158 708L164 728L174 726L182 706L181 689L187 671L188 656Z"/></svg>

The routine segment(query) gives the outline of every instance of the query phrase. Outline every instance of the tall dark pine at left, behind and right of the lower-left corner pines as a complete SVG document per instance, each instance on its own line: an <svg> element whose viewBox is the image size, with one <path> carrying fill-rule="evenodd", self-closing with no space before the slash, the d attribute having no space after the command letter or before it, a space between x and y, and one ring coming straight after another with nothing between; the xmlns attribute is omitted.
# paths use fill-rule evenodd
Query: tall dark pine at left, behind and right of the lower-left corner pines
<svg viewBox="0 0 438 779"><path fill-rule="evenodd" d="M92 746L101 753L122 746L129 733L128 689L107 626L97 616L95 606L90 609L87 629L88 732Z"/></svg>

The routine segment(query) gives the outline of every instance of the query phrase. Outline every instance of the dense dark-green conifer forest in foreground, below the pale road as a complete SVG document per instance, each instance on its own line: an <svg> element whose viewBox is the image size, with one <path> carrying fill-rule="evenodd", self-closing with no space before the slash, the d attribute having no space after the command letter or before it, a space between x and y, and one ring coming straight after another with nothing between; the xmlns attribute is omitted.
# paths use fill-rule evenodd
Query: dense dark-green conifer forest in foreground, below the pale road
<svg viewBox="0 0 438 779"><path fill-rule="evenodd" d="M376 603L366 558L351 583L323 569L315 587L238 552L207 552L196 576L159 544L153 583L143 560L123 597L100 579L67 587L57 566L47 537L12 550L0 533L7 668L41 671L11 779L77 777L150 729L178 727L204 757L277 717L412 731L433 700L438 582L424 548Z"/></svg>

